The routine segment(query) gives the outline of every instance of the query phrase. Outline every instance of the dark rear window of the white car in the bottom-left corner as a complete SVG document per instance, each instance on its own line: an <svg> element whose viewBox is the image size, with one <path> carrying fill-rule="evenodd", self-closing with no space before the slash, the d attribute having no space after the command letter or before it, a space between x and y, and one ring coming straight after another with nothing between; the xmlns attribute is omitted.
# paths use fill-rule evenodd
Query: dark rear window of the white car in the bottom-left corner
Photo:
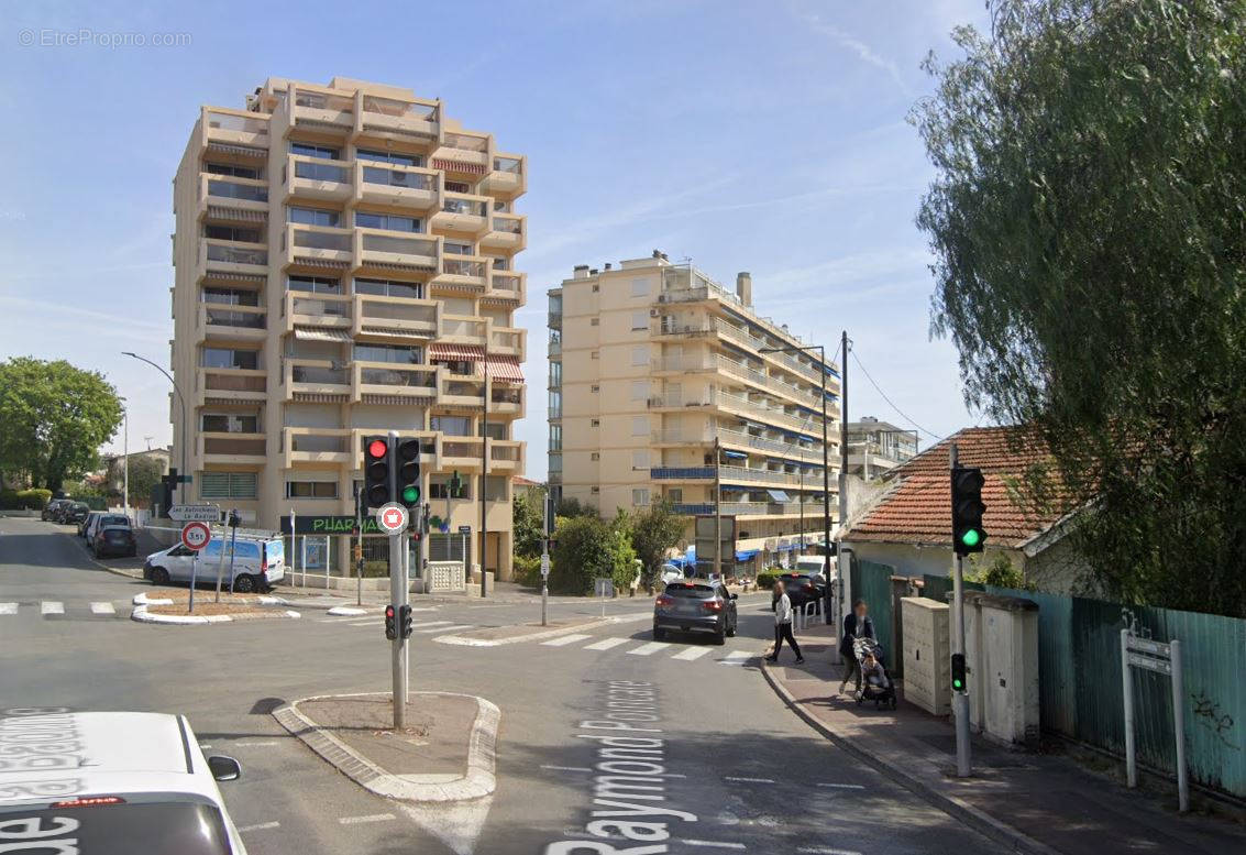
<svg viewBox="0 0 1246 855"><path fill-rule="evenodd" d="M221 811L192 801L0 810L6 844L30 853L229 855ZM26 829L24 831L22 829ZM141 829L141 845L136 831ZM29 839L27 839L29 838ZM0 846L0 851L7 846Z"/></svg>

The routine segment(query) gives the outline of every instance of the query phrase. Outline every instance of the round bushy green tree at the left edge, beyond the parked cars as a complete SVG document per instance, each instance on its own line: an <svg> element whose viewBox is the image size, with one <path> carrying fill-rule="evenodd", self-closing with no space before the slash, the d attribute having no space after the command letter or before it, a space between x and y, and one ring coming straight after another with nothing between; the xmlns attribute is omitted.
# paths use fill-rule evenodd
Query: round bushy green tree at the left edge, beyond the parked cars
<svg viewBox="0 0 1246 855"><path fill-rule="evenodd" d="M57 491L98 465L121 400L97 371L19 356L0 363L0 471Z"/></svg>

